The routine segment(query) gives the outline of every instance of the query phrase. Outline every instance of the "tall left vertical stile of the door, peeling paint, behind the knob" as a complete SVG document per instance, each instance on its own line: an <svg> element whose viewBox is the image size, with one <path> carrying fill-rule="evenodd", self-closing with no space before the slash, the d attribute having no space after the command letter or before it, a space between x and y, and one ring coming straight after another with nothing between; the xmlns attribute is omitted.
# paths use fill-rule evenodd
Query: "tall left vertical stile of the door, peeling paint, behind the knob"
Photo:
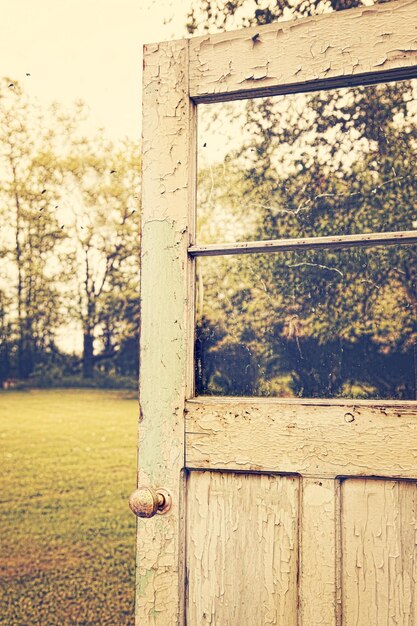
<svg viewBox="0 0 417 626"><path fill-rule="evenodd" d="M195 149L188 43L145 49L139 482L167 489L170 513L138 520L136 623L180 622L181 468L187 370L190 176Z"/></svg>

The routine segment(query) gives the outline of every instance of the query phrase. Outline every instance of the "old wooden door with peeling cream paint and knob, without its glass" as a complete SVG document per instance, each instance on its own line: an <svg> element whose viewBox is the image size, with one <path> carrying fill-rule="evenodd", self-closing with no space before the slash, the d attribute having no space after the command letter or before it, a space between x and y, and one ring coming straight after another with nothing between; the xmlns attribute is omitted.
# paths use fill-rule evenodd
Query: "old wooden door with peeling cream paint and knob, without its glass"
<svg viewBox="0 0 417 626"><path fill-rule="evenodd" d="M145 48L144 487L133 506L152 515L167 504L148 488L171 504L138 520L140 626L417 625L416 402L208 397L196 395L194 375L200 257L417 242L414 224L202 245L198 105L409 80L416 26L417 3L400 0Z"/></svg>

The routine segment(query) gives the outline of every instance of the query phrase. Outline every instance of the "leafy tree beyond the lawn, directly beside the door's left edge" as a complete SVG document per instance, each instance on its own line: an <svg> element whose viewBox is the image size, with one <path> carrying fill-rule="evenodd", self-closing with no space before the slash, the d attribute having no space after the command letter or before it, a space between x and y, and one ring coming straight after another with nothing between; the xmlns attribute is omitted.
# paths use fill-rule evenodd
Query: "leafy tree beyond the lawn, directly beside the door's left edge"
<svg viewBox="0 0 417 626"><path fill-rule="evenodd" d="M116 356L137 336L139 280L138 145L115 147L100 137L77 139L61 163L72 198L68 231L76 298L70 312L83 330L83 375ZM133 319L132 319L133 318ZM101 342L101 351L94 348Z"/></svg>

